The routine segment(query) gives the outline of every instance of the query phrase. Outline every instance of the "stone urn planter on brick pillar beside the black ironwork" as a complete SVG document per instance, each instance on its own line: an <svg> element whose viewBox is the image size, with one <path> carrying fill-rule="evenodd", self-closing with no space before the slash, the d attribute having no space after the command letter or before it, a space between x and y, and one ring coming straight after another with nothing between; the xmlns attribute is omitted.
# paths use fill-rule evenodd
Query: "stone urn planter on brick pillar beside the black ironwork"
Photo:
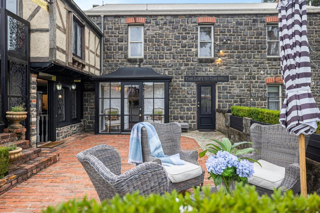
<svg viewBox="0 0 320 213"><path fill-rule="evenodd" d="M26 112L26 107L24 106L24 103L23 103L23 104L11 107L11 111L6 112L7 115L5 116L5 118L12 121L12 124L10 125L10 127L19 128L19 127L22 127L22 125L20 124L20 121L23 121L27 118L27 113L28 112Z"/></svg>

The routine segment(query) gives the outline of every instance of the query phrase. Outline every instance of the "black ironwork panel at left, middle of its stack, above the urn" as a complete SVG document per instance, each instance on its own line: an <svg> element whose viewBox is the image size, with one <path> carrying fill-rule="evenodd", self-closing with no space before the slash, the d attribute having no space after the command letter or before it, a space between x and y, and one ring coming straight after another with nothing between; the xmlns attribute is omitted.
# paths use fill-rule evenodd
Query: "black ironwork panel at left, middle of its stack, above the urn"
<svg viewBox="0 0 320 213"><path fill-rule="evenodd" d="M26 72L26 65L9 62L9 95L27 95Z"/></svg>

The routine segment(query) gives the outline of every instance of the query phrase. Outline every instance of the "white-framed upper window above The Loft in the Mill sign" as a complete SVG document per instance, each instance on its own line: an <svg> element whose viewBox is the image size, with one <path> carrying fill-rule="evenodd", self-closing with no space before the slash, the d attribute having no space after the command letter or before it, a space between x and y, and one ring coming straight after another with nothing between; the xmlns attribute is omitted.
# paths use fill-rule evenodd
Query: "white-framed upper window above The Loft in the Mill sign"
<svg viewBox="0 0 320 213"><path fill-rule="evenodd" d="M214 57L213 25L200 25L198 27L198 57Z"/></svg>

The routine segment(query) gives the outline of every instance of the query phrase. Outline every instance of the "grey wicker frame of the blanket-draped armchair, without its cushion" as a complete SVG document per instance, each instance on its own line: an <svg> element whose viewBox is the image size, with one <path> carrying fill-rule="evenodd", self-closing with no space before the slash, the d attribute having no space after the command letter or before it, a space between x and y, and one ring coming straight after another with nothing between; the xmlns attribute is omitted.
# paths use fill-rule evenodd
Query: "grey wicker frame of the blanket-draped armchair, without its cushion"
<svg viewBox="0 0 320 213"><path fill-rule="evenodd" d="M180 137L181 137L181 126L178 122L172 122L167 124L161 123L151 123L159 136L161 141L161 145L165 155L174 155L179 153L180 158L184 161L187 161L192 164L199 165L198 160L198 153L196 151L182 151L180 147ZM142 156L143 162L157 162L161 165L161 160L158 158L154 158L150 154L150 148L148 143L148 133L146 128L142 127L141 129L141 146L142 146ZM179 183L172 183L169 180L169 192L172 190L176 191L183 191L193 186L201 185L203 186L204 182L204 170L202 169L202 174L198 177L179 182Z"/></svg>

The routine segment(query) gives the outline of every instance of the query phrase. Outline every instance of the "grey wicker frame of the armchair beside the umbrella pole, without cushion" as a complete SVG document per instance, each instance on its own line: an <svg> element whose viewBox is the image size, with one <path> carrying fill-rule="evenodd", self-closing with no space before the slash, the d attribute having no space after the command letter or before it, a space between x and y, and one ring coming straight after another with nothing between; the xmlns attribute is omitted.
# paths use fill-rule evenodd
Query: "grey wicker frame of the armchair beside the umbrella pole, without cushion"
<svg viewBox="0 0 320 213"><path fill-rule="evenodd" d="M282 193L292 189L294 194L300 192L300 165L299 165L299 139L298 136L287 133L280 124L266 126L253 124L250 128L250 137L253 142L253 148L260 154L243 155L254 160L265 160L269 163L285 167L284 180L279 188ZM307 147L309 135L305 137ZM272 190L256 186L258 194L273 193Z"/></svg>

